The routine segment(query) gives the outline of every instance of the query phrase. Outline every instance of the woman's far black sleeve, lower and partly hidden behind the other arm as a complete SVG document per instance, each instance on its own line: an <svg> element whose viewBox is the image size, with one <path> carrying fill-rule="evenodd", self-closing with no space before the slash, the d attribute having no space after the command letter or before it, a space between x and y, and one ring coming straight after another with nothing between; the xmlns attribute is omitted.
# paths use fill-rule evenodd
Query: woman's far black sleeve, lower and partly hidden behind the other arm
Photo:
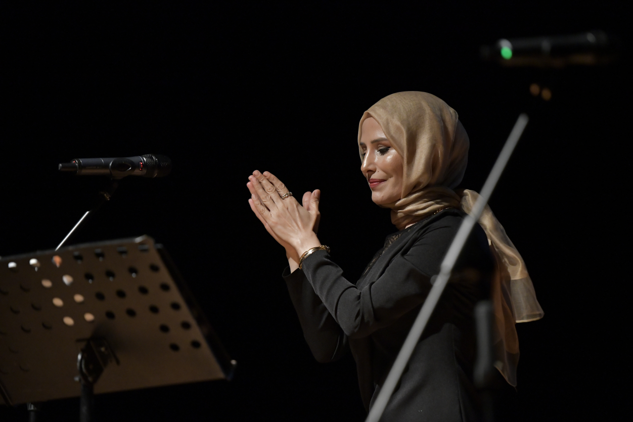
<svg viewBox="0 0 633 422"><path fill-rule="evenodd" d="M297 269L291 273L286 267L282 277L316 361L327 363L340 359L349 350L348 337L316 296L303 271Z"/></svg>

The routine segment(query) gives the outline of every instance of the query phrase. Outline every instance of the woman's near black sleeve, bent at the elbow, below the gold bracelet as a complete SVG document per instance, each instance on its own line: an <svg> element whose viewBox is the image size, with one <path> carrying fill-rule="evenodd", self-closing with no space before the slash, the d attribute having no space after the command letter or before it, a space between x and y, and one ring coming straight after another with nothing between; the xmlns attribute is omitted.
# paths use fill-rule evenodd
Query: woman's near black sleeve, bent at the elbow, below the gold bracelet
<svg viewBox="0 0 633 422"><path fill-rule="evenodd" d="M368 336L422 304L432 287L430 278L439 270L461 220L460 216L447 215L418 231L417 238L411 239L410 248L396 255L379 278L360 289L343 277L341 268L323 250L304 260L303 273L347 336ZM481 227L477 226L477 229L483 232ZM468 252L480 250L477 237L480 236L471 235L465 246L466 255L475 261L477 257ZM460 266L460 261L463 266L462 258L456 267Z"/></svg>

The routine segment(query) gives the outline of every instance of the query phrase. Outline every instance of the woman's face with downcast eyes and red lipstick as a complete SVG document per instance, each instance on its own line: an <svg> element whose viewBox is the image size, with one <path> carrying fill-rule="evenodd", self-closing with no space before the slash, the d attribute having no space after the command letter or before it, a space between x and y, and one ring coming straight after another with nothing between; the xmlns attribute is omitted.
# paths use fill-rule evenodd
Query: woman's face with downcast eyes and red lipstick
<svg viewBox="0 0 633 422"><path fill-rule="evenodd" d="M392 148L389 139L373 117L361 127L360 166L372 189L372 201L378 205L395 202L402 193L402 157Z"/></svg>

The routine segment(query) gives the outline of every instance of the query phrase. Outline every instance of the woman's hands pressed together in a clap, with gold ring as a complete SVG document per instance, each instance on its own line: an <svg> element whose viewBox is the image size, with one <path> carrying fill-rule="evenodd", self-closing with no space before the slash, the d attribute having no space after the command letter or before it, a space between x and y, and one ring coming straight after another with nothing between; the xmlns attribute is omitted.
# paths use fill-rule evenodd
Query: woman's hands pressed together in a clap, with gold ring
<svg viewBox="0 0 633 422"><path fill-rule="evenodd" d="M291 245L299 257L306 250L321 245L315 233L320 218L318 189L304 194L304 205L308 206L302 207L292 196L281 198L288 189L270 172L261 174L255 170L248 179L251 208L260 214L260 220L268 225L266 228L270 228L279 243Z"/></svg>

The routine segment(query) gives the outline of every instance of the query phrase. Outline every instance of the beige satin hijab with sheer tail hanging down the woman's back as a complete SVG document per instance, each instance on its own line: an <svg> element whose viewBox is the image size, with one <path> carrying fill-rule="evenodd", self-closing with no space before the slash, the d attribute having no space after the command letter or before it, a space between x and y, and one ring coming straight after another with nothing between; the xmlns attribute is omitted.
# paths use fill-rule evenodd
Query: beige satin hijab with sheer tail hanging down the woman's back
<svg viewBox="0 0 633 422"><path fill-rule="evenodd" d="M434 214L442 208L458 207L469 213L479 195L467 189L454 190L468 162L468 135L455 110L434 95L408 91L387 96L363 114L380 124L393 148L403 158L400 198L381 205L391 208L391 221L399 229ZM479 219L496 259L492 281L494 303L495 366L508 383L517 385L518 338L515 323L543 316L536 300L525 262L503 226L486 206Z"/></svg>

